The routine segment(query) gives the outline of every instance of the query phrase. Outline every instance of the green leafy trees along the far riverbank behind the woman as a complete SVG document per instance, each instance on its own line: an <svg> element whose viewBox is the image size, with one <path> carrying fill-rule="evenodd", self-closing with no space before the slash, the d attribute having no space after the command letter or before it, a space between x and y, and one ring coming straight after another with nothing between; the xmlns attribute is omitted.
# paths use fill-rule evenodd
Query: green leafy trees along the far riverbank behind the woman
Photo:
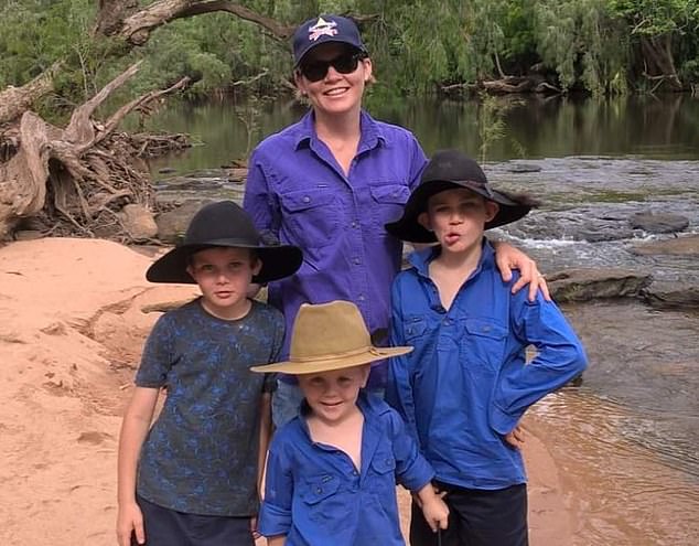
<svg viewBox="0 0 699 546"><path fill-rule="evenodd" d="M149 4L150 2L141 2ZM246 0L243 6L294 24L319 13L359 17L379 85L375 97L422 95L449 84L542 74L563 92L626 93L643 79L642 40L670 36L678 76L699 81L699 0ZM291 57L255 23L219 12L176 20L140 49L93 35L97 2L0 2L0 88L19 86L62 60L61 113L137 60L143 67L122 95L164 87L183 75L193 97L232 88L277 95ZM638 68L638 64L642 68ZM123 96L115 95L115 101Z"/></svg>

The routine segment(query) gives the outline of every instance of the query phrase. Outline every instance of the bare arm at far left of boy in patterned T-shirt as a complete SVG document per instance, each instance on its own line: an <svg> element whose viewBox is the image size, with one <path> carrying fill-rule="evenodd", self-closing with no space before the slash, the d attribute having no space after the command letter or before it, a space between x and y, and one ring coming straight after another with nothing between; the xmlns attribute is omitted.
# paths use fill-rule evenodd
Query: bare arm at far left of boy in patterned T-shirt
<svg viewBox="0 0 699 546"><path fill-rule="evenodd" d="M119 503L117 539L119 546L130 546L132 533L136 533L138 544L146 542L143 515L136 502L136 469L141 446L153 418L158 393L158 388L136 387L121 424L117 464L117 499Z"/></svg>

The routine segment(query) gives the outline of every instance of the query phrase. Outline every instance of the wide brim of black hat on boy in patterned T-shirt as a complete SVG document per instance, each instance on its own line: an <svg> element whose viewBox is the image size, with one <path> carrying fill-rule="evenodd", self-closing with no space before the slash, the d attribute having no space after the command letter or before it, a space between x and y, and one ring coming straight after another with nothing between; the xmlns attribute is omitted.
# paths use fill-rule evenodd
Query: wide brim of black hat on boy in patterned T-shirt
<svg viewBox="0 0 699 546"><path fill-rule="evenodd" d="M303 254L295 246L255 246L235 239L216 239L205 244L181 245L158 258L146 271L150 282L174 282L196 285L186 271L190 256L212 247L250 248L255 250L262 267L252 277L252 282L265 283L293 275L303 261Z"/></svg>

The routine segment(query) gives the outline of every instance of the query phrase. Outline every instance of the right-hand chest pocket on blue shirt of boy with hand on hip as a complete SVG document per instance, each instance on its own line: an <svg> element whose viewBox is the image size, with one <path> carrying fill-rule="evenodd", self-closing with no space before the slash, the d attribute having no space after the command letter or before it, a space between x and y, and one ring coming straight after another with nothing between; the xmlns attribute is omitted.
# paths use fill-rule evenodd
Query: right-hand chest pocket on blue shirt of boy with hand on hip
<svg viewBox="0 0 699 546"><path fill-rule="evenodd" d="M476 375L494 375L501 367L507 339L505 324L493 319L463 319L462 362Z"/></svg>

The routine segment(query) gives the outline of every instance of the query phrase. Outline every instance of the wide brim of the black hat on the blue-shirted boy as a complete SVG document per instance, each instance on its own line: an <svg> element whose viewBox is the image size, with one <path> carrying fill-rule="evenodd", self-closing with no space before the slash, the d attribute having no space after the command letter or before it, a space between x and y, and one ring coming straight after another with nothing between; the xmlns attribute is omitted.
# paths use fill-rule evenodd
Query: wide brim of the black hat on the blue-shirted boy
<svg viewBox="0 0 699 546"><path fill-rule="evenodd" d="M418 217L427 211L427 202L437 193L456 188L470 190L482 197L497 203L499 210L495 217L485 223L484 229L492 229L505 224L512 224L524 217L531 211L534 202L527 200L519 202L504 192L490 190L490 192L480 183L470 183L469 181L452 182L445 180L432 180L420 184L408 199L404 208L402 216L396 222L384 224L385 229L400 240L409 243L435 243L437 237L433 232L424 228Z"/></svg>

